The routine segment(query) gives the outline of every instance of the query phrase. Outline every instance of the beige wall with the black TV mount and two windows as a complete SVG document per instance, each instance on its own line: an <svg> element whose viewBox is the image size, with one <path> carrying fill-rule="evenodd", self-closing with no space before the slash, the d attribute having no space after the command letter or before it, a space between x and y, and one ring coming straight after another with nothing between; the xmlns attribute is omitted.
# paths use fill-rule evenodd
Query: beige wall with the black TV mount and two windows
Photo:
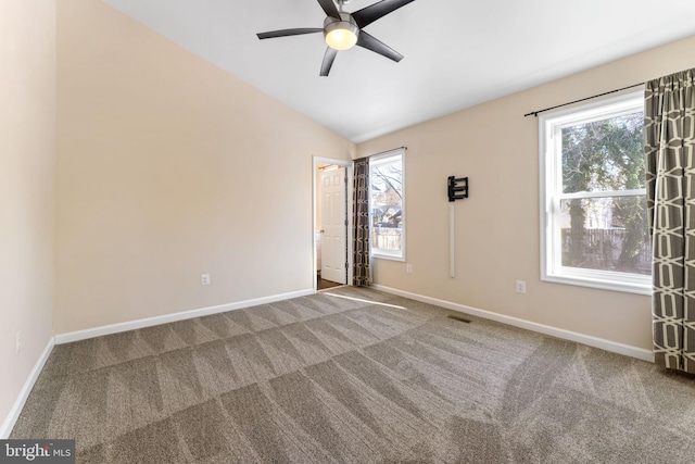
<svg viewBox="0 0 695 464"><path fill-rule="evenodd" d="M650 349L649 297L540 280L538 120L523 114L695 66L695 37L358 146L407 146L407 262L375 260L377 284ZM446 177L457 201L456 278L448 277ZM515 292L526 280L528 293Z"/></svg>

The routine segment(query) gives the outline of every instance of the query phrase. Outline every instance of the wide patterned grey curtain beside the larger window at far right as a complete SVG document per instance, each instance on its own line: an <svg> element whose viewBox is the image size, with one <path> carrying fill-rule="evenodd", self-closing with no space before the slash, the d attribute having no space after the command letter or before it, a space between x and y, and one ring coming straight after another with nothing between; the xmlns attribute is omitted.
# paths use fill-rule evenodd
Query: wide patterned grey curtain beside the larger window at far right
<svg viewBox="0 0 695 464"><path fill-rule="evenodd" d="M695 70L650 80L644 130L658 364L695 374Z"/></svg>

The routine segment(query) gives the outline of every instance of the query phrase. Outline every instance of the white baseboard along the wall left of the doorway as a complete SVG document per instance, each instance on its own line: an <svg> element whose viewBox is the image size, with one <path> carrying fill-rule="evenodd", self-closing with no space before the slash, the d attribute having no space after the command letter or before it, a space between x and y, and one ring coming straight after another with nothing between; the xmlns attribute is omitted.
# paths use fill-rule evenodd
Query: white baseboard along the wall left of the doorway
<svg viewBox="0 0 695 464"><path fill-rule="evenodd" d="M316 290L299 290L289 293L274 294L270 297L256 298L253 300L239 301L236 303L220 304L217 306L201 308L198 310L182 311L180 313L165 314L162 316L148 317L143 319L129 321L125 323L111 324L85 330L70 331L55 336L55 344L70 343L73 341L86 340L88 338L101 337L103 335L117 334L121 331L135 330L160 324L168 324L177 321L190 319L193 317L207 316L211 314L224 313L226 311L240 310L242 308L257 306L260 304L274 303L276 301L289 300L292 298L314 294Z"/></svg>

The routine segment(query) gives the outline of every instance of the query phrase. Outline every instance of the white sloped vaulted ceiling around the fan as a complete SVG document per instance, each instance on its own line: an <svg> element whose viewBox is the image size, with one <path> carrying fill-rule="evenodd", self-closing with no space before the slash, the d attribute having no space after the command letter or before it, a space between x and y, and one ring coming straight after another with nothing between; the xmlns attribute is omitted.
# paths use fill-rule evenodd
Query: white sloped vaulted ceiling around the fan
<svg viewBox="0 0 695 464"><path fill-rule="evenodd" d="M319 77L321 34L256 37L323 27L316 0L104 1L354 142L695 35L693 0L415 0L365 27L400 63L355 47Z"/></svg>

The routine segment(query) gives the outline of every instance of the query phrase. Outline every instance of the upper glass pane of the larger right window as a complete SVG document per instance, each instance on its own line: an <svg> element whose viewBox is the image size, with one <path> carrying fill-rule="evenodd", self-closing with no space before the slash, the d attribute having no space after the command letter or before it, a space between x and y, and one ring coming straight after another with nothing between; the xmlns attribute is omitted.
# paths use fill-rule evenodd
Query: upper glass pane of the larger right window
<svg viewBox="0 0 695 464"><path fill-rule="evenodd" d="M561 129L563 192L645 188L643 112Z"/></svg>

